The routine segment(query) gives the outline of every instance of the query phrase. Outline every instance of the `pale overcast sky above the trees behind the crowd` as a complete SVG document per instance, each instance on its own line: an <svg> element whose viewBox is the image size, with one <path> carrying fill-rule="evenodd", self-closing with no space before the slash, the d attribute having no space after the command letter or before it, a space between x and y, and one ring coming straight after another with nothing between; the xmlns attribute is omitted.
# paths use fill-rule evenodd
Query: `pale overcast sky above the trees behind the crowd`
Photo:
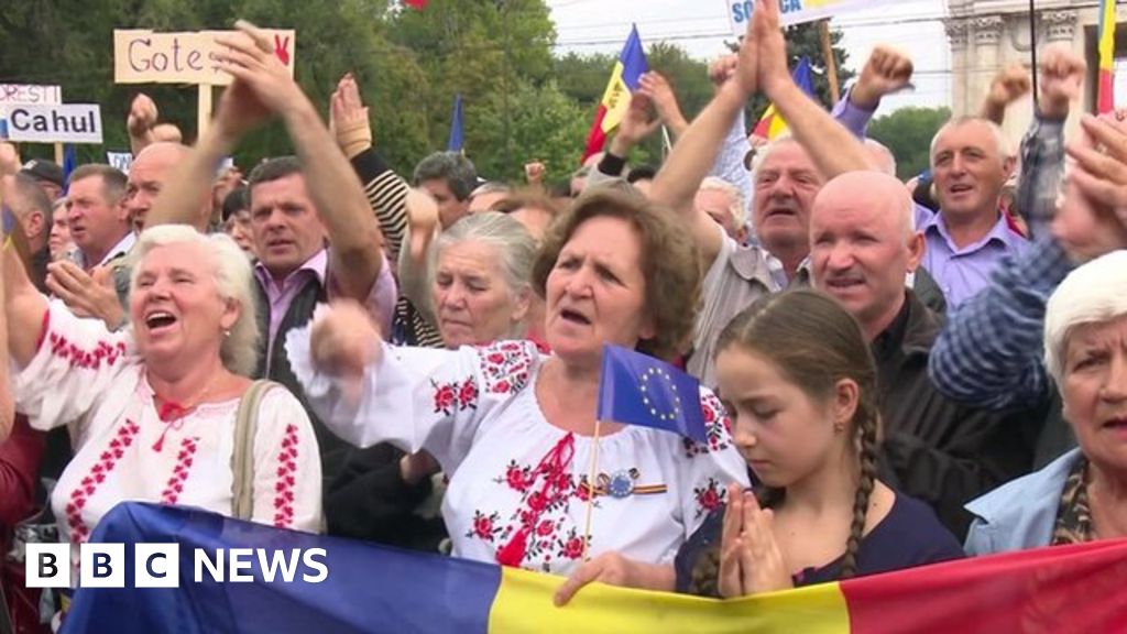
<svg viewBox="0 0 1127 634"><path fill-rule="evenodd" d="M710 59L725 53L734 39L727 18L728 0L549 0L560 52L618 53L638 25L642 42L669 41L691 55ZM950 52L943 24L943 0L903 0L875 9L852 11L832 23L844 35L846 65L860 70L873 45L894 44L915 62L914 93L891 96L887 113L903 106L950 105Z"/></svg>

